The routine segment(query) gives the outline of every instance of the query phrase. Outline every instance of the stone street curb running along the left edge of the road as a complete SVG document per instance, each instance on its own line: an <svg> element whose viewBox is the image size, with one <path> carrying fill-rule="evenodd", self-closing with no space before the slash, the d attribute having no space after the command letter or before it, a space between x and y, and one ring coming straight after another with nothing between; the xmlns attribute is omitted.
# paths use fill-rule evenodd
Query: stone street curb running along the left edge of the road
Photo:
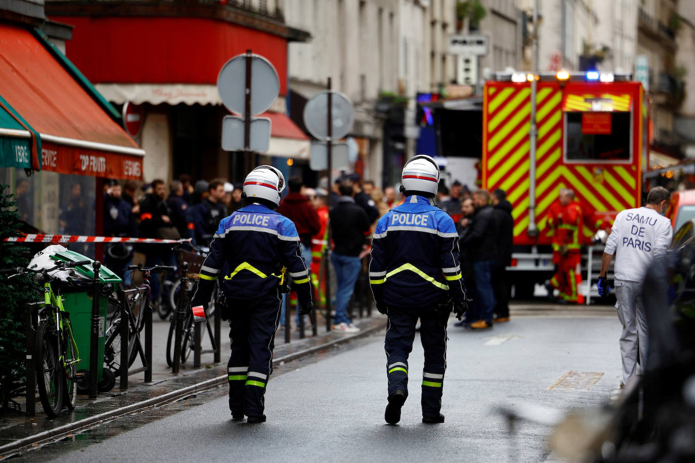
<svg viewBox="0 0 695 463"><path fill-rule="evenodd" d="M318 346L306 348L303 351L283 355L282 357L278 357L277 359L273 360L272 363L274 366L277 367L281 363L297 360L297 358L304 357L304 355L325 351L327 348L338 346L339 344L350 342L353 339L358 339L360 337L370 335L371 333L377 330L382 330L386 326L385 322L386 321L384 320L383 324L379 323L378 326L365 328L364 330L361 330L360 332L355 333L354 335L341 337L339 339L334 339L330 342L326 342L325 344L320 344ZM44 441L47 439L56 439L61 435L70 434L77 430L81 430L82 428L86 428L87 426L90 426L92 424L99 423L100 421L113 418L114 416L135 412L136 410L141 410L145 407L152 407L152 405L158 405L161 403L174 401L177 398L183 398L195 394L196 392L202 392L207 389L212 389L213 387L218 387L226 382L227 374L224 374L222 376L218 376L217 378L210 378L208 380L204 380L195 385L189 385L186 387L182 387L181 389L177 389L175 391L167 392L166 394L162 394L161 396L148 398L146 401L131 403L130 405L126 405L124 407L116 408L114 410L100 413L95 416L89 416L88 418L84 418L79 421L74 421L73 423L67 423L63 426L58 426L57 428L51 430L39 432L38 434L35 434L30 437L24 437L23 439L11 442L10 444L0 446L0 460L4 460L8 457L11 457L16 453L19 453L19 451L21 451L22 448L25 448L27 446L33 446L33 444L36 444L40 441Z"/></svg>

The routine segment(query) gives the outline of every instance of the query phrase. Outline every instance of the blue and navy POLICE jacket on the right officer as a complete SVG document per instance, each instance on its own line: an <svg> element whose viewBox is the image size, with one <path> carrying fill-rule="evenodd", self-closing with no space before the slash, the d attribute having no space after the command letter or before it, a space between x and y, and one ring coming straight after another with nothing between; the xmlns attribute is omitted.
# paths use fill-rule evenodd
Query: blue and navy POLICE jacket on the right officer
<svg viewBox="0 0 695 463"><path fill-rule="evenodd" d="M408 196L379 219L372 241L369 281L377 303L421 308L447 293L466 297L454 221L424 196Z"/></svg>

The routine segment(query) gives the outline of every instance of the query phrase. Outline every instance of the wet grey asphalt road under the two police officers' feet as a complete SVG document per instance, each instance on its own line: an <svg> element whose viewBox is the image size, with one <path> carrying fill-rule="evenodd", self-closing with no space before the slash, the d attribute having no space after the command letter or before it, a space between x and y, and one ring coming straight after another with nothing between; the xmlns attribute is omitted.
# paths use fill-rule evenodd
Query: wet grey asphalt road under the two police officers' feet
<svg viewBox="0 0 695 463"><path fill-rule="evenodd" d="M605 403L618 387L620 324L615 317L516 317L486 332L455 328L453 321L442 409L446 422L441 425L420 421L419 339L411 354L410 396L402 420L399 426L386 425L380 335L271 377L267 423L231 421L222 389L199 397L195 407L180 407L104 441L53 444L19 460L542 462L548 457L550 426L521 423L509 439L505 420L495 411L498 405L568 411ZM592 376L598 378L595 385L569 382L564 389L548 389L568 371L603 374Z"/></svg>

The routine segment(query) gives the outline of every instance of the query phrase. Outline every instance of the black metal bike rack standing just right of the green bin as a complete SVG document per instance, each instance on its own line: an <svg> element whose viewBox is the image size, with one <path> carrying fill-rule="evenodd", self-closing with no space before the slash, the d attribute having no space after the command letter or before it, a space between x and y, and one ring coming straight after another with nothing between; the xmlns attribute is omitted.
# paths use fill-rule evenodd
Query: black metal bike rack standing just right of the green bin
<svg viewBox="0 0 695 463"><path fill-rule="evenodd" d="M120 337L121 337L121 360L120 360L120 385L119 389L128 389L128 376L140 373L140 371L145 371L145 382L152 382L152 307L149 305L149 293L145 297L145 304L140 310L145 310L145 349L143 351L142 344L140 343L140 332L138 332L137 327L133 327L135 336L135 347L138 350L138 355L140 355L140 361L142 362L142 367L129 370L128 360L129 360L129 326L130 318L128 314L131 313L131 307L128 303L128 294L135 294L142 292L139 287L132 289L120 289L118 292L118 300L121 305L120 312ZM125 348L124 348L125 346Z"/></svg>

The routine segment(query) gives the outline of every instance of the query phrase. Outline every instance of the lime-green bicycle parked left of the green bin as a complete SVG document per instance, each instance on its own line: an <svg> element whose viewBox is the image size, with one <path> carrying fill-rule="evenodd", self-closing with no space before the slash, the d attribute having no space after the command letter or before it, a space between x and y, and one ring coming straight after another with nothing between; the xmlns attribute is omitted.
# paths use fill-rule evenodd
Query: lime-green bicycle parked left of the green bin
<svg viewBox="0 0 695 463"><path fill-rule="evenodd" d="M44 302L38 310L36 319L35 346L32 353L35 359L36 382L44 412L56 418L63 410L63 401L68 409L73 410L77 402L77 385L88 384L86 373L77 372L77 364L82 360L77 349L70 314L63 307L60 297L60 285L54 289L56 278L49 275L55 270L91 264L90 260L79 262L59 262L51 269L15 269L0 270L0 273L16 272L8 278L24 276L28 273L40 275L39 281L44 287ZM89 280L79 279L88 282ZM40 305L38 303L37 305Z"/></svg>

